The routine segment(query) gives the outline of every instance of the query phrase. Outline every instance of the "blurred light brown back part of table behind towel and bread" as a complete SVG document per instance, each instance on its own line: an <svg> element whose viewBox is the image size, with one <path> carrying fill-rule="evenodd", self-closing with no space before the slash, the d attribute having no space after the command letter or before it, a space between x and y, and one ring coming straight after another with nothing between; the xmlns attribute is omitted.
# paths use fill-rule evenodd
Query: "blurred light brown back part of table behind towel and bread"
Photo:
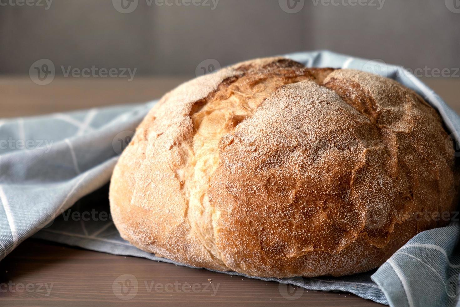
<svg viewBox="0 0 460 307"><path fill-rule="evenodd" d="M191 77L135 77L131 82L117 78L56 77L50 84L37 85L28 76L0 75L0 118L150 101ZM422 81L460 113L460 78Z"/></svg>

